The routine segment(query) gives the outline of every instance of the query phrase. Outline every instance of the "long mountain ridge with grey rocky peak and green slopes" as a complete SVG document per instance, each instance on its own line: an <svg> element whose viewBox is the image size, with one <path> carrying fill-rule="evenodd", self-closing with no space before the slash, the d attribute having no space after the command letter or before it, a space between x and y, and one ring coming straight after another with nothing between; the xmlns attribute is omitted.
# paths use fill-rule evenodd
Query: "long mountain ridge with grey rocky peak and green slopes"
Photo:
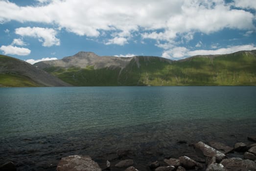
<svg viewBox="0 0 256 171"><path fill-rule="evenodd" d="M79 52L62 60L34 65L75 86L256 85L256 50L179 61Z"/></svg>

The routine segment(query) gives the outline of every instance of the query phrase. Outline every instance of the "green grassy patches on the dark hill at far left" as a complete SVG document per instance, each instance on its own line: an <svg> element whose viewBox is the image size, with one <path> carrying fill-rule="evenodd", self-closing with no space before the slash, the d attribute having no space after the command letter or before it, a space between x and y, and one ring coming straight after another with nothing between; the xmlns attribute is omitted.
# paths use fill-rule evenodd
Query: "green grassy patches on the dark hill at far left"
<svg viewBox="0 0 256 171"><path fill-rule="evenodd" d="M0 67L13 67L14 64L19 64L19 60L0 55ZM25 87L25 86L42 86L34 82L32 79L23 76L17 72L2 72L0 73L0 87Z"/></svg>

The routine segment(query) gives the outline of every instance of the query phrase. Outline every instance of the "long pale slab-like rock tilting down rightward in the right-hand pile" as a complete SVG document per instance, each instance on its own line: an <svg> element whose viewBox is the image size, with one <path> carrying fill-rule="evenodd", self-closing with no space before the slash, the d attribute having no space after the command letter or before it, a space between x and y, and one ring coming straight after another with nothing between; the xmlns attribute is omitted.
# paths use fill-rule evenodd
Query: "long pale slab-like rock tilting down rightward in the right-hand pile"
<svg viewBox="0 0 256 171"><path fill-rule="evenodd" d="M198 142L196 144L193 145L195 148L195 151L198 154L207 156L207 157L216 157L217 162L220 162L223 158L226 157L226 155L218 150L213 149L212 147L206 145L203 142Z"/></svg>

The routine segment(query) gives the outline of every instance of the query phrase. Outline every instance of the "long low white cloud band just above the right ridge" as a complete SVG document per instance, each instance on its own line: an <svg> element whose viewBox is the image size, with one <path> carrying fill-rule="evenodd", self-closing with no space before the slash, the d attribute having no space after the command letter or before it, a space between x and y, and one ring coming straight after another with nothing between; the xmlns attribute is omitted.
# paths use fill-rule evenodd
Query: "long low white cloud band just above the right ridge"
<svg viewBox="0 0 256 171"><path fill-rule="evenodd" d="M215 50L189 50L186 47L173 47L169 50L163 51L162 57L168 59L183 59L195 55L217 55L217 54L229 54L240 50L254 50L256 46L254 44L236 45L226 48L219 48Z"/></svg>

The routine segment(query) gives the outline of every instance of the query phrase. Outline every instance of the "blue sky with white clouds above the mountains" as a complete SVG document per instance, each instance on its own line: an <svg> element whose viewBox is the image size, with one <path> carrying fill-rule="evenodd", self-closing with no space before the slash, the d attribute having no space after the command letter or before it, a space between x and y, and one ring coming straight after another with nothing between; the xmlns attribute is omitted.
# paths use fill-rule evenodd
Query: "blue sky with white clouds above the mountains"
<svg viewBox="0 0 256 171"><path fill-rule="evenodd" d="M0 54L194 55L256 49L256 0L0 0Z"/></svg>

